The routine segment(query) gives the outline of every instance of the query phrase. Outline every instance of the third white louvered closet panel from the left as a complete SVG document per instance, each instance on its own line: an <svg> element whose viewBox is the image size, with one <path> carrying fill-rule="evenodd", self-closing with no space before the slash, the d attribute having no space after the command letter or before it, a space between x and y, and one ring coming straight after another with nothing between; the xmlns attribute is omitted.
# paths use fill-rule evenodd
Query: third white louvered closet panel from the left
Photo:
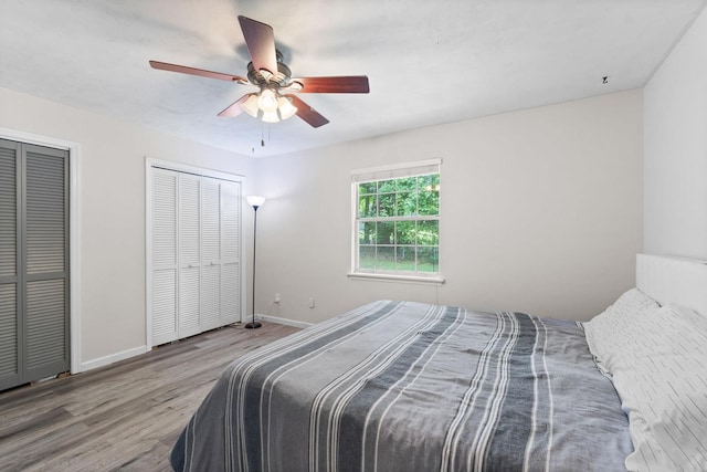
<svg viewBox="0 0 707 472"><path fill-rule="evenodd" d="M201 328L213 329L221 322L221 183L201 179Z"/></svg>

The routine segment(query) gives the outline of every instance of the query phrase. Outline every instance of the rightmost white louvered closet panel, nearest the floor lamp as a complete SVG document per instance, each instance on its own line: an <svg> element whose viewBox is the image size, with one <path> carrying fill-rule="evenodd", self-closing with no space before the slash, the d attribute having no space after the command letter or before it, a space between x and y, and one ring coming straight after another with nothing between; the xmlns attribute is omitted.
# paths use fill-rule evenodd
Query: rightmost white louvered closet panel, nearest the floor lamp
<svg viewBox="0 0 707 472"><path fill-rule="evenodd" d="M241 183L221 183L221 319L241 321Z"/></svg>

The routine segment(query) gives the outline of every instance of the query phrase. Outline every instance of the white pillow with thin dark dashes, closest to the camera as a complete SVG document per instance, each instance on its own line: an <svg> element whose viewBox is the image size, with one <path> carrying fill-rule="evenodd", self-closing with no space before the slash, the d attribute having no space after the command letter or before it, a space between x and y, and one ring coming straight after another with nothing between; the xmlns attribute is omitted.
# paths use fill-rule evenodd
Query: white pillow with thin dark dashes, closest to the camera
<svg viewBox="0 0 707 472"><path fill-rule="evenodd" d="M639 471L707 470L707 316L666 305L612 371Z"/></svg>

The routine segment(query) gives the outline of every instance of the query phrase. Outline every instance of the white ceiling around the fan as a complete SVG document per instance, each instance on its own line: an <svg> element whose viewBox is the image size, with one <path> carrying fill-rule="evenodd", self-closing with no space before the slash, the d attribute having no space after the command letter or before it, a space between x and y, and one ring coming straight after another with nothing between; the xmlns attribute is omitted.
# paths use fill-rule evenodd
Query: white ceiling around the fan
<svg viewBox="0 0 707 472"><path fill-rule="evenodd" d="M0 87L260 157L642 87L704 7L0 0ZM239 14L273 27L293 76L366 74L371 93L299 95L331 122L320 128L297 117L263 125L217 116L250 87L149 67L157 60L245 76Z"/></svg>

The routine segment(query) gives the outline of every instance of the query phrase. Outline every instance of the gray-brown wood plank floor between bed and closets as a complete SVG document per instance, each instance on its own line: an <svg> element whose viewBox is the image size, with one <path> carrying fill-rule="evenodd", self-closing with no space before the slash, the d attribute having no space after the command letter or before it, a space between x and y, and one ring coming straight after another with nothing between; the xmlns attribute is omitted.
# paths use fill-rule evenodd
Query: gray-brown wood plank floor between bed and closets
<svg viewBox="0 0 707 472"><path fill-rule="evenodd" d="M177 437L225 366L296 331L231 325L0 392L0 470L170 471Z"/></svg>

